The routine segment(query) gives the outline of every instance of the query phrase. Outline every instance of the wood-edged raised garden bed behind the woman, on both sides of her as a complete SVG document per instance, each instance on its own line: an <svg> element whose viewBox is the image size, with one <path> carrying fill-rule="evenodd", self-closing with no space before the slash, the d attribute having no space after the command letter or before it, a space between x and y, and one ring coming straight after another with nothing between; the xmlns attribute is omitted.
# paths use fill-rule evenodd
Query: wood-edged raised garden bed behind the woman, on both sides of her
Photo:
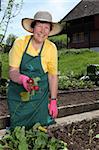
<svg viewBox="0 0 99 150"><path fill-rule="evenodd" d="M99 88L62 90L58 92L58 118L99 109ZM7 101L0 98L0 128L9 122Z"/></svg>

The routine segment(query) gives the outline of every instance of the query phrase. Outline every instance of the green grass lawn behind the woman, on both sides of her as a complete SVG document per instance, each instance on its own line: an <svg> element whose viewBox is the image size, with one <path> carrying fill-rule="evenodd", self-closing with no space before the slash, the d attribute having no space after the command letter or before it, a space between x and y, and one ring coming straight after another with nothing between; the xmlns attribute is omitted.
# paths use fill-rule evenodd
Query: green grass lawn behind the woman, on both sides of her
<svg viewBox="0 0 99 150"><path fill-rule="evenodd" d="M8 53L0 53L2 62L2 77L8 78ZM60 50L59 71L61 74L73 72L76 75L84 75L88 64L99 64L99 52L84 50Z"/></svg>

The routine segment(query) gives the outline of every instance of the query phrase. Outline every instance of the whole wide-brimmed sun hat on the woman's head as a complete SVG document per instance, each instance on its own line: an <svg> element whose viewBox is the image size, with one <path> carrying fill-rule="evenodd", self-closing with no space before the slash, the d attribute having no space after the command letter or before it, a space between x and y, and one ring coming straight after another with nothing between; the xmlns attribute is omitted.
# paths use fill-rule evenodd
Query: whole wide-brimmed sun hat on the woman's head
<svg viewBox="0 0 99 150"><path fill-rule="evenodd" d="M46 21L52 23L52 30L49 33L49 36L56 35L60 33L63 29L63 25L59 23L52 22L52 16L49 12L47 11L38 11L34 15L34 19L32 18L23 18L22 19L22 26L23 28L28 31L28 32L33 32L33 28L31 27L31 23L34 22L35 20L39 21Z"/></svg>

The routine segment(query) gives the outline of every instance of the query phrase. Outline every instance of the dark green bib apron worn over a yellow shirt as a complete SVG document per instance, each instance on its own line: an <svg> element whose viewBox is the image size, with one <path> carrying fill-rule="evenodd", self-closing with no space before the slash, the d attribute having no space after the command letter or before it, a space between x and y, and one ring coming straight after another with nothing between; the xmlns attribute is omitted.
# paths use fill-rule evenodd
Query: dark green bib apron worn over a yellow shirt
<svg viewBox="0 0 99 150"><path fill-rule="evenodd" d="M31 36L32 38L32 36ZM30 38L30 40L31 40ZM20 73L28 77L39 77L39 91L37 91L29 101L24 102L20 96L21 92L26 92L22 85L10 81L8 86L8 108L10 111L10 127L25 126L32 127L39 122L41 125L49 125L54 123L54 120L48 113L49 101L49 84L48 73L45 73L41 64L41 49L38 56L31 56L26 53L27 44L20 65Z"/></svg>

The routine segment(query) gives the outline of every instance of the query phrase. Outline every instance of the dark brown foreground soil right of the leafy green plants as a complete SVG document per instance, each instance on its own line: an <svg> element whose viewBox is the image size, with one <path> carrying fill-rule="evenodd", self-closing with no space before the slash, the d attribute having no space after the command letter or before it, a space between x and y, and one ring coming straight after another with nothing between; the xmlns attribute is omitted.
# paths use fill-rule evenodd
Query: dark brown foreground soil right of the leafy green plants
<svg viewBox="0 0 99 150"><path fill-rule="evenodd" d="M67 143L68 150L99 150L99 118L51 128L52 136Z"/></svg>

